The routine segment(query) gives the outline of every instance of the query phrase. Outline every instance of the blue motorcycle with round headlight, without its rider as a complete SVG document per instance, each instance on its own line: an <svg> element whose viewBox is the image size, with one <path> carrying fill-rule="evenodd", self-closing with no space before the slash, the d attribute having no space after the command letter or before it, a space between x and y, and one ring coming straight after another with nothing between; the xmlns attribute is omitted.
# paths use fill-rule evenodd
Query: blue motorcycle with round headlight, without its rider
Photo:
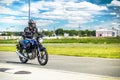
<svg viewBox="0 0 120 80"><path fill-rule="evenodd" d="M40 65L46 65L48 62L48 52L42 45L43 39L41 36L35 39L26 38L19 41L16 45L16 53L22 63L27 63L28 60L33 60L37 57Z"/></svg>

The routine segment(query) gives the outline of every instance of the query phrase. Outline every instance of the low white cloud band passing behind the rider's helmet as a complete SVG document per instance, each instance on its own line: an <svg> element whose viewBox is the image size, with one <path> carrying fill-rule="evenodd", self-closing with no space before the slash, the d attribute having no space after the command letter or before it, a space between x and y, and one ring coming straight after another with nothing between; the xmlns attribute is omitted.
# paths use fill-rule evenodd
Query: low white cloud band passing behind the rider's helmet
<svg viewBox="0 0 120 80"><path fill-rule="evenodd" d="M27 19L16 19L15 16L4 17L0 18L1 24L10 24L15 26L27 26L28 20ZM49 24L54 23L52 20L36 20L36 24L38 27L47 26Z"/></svg>

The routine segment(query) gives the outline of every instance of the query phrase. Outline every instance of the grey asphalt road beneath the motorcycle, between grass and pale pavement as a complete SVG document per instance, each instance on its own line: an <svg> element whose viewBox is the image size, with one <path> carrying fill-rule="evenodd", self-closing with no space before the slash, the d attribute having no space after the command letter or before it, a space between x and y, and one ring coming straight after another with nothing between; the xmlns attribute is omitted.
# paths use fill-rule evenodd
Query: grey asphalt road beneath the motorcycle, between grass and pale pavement
<svg viewBox="0 0 120 80"><path fill-rule="evenodd" d="M120 77L120 59L49 55L48 64L40 66L37 59L30 60L27 64L22 64L15 52L0 52L0 63Z"/></svg>

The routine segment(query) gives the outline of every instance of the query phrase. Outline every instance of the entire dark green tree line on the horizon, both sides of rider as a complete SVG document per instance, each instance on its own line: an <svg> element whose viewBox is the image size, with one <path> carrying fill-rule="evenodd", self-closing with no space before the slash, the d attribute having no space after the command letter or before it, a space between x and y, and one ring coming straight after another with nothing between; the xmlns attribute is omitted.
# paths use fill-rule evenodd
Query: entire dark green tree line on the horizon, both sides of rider
<svg viewBox="0 0 120 80"><path fill-rule="evenodd" d="M62 28L56 29L55 31L42 31L44 36L64 36L64 34L69 34L69 36L95 36L95 30L64 30ZM3 32L1 36L22 36L23 32Z"/></svg>

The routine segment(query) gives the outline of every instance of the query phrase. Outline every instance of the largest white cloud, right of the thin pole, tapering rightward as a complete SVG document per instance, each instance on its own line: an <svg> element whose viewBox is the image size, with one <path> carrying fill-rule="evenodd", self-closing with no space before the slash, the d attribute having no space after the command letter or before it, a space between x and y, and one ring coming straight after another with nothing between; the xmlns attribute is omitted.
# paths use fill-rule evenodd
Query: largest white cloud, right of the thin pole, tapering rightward
<svg viewBox="0 0 120 80"><path fill-rule="evenodd" d="M106 6L98 6L86 1L80 3L62 1L41 1L38 3L33 3L32 5L34 5L33 8L36 9L36 13L33 14L33 16L35 17L51 20L68 20L68 22L75 22L75 24L76 22L88 22L90 21L90 19L93 18L94 15L101 14L100 11L108 10ZM50 11L46 11L40 14L39 10L44 9Z"/></svg>

